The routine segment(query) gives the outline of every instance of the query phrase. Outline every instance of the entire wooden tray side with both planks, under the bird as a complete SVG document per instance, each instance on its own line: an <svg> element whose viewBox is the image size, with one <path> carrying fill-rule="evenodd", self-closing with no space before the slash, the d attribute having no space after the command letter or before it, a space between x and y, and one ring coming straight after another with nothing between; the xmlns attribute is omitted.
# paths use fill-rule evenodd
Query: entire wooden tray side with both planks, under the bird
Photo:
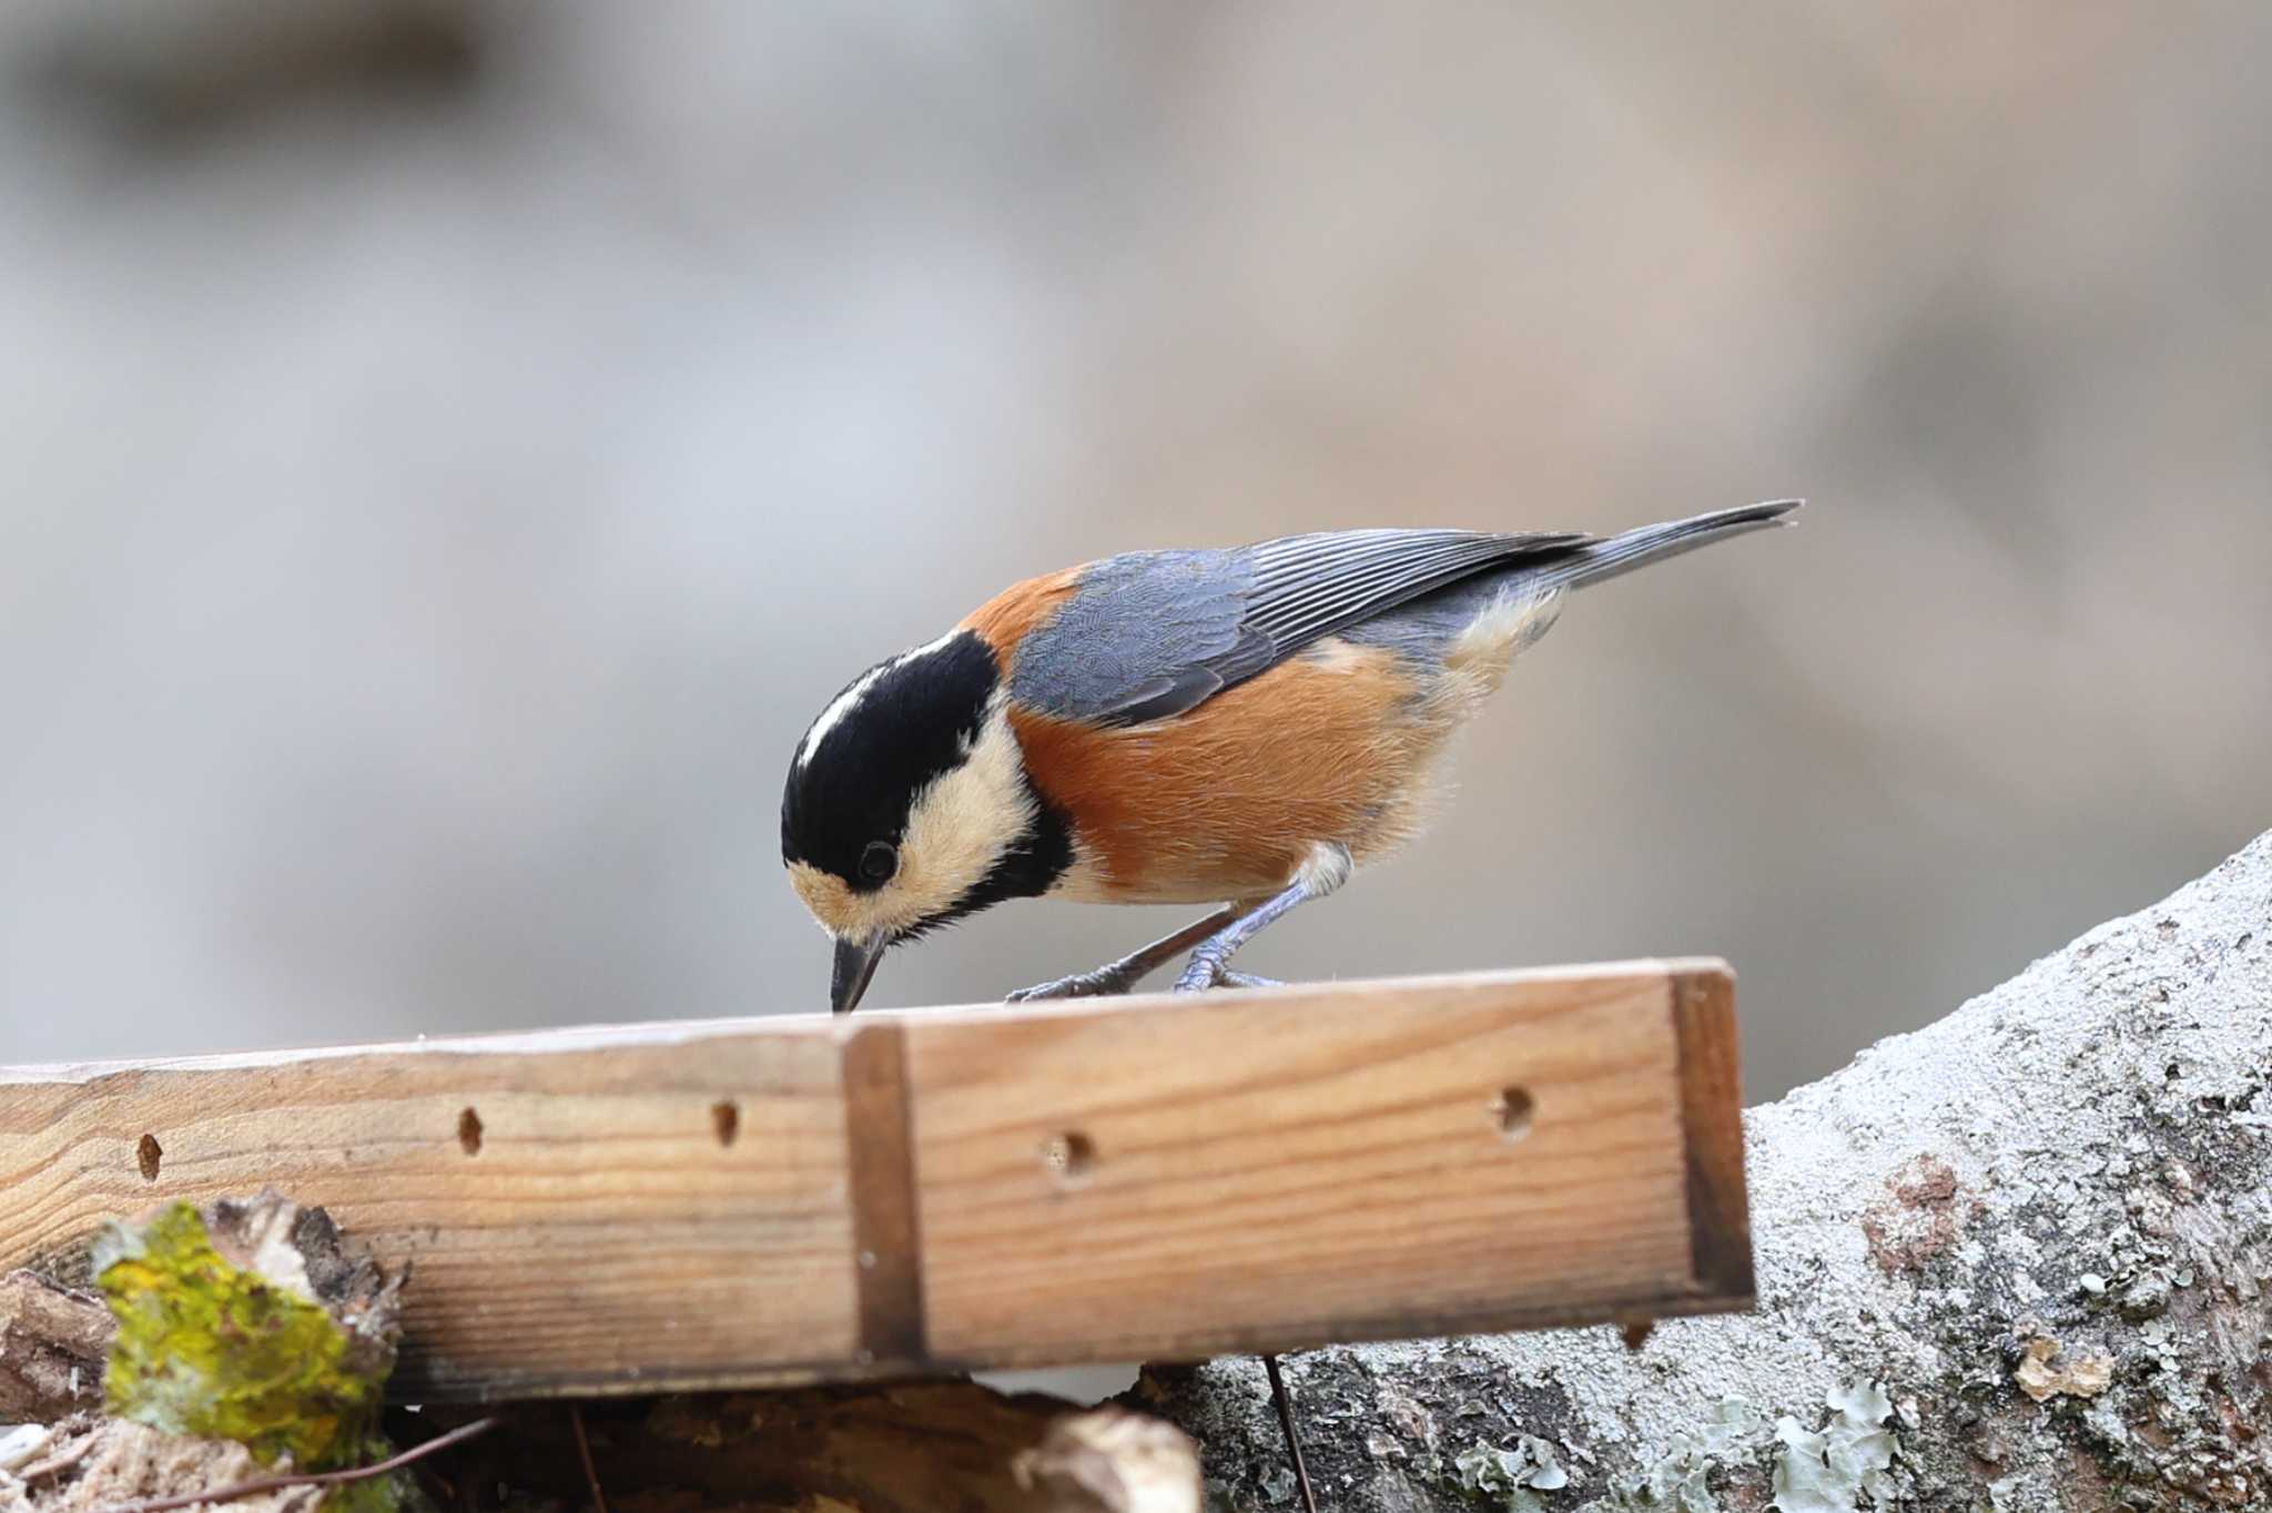
<svg viewBox="0 0 2272 1513"><path fill-rule="evenodd" d="M1718 961L0 1070L0 1268L277 1186L411 1399L1747 1306Z"/></svg>

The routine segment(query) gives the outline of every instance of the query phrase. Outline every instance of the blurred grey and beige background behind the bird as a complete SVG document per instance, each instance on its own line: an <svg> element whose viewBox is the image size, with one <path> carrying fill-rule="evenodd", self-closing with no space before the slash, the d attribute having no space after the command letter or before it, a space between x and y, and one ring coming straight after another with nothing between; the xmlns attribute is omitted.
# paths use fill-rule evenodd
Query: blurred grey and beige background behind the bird
<svg viewBox="0 0 2272 1513"><path fill-rule="evenodd" d="M2272 825L2267 68L2238 2L11 5L0 1054L813 1011L788 750L1002 584L1806 493L1250 961L1722 952L1779 1093Z"/></svg>

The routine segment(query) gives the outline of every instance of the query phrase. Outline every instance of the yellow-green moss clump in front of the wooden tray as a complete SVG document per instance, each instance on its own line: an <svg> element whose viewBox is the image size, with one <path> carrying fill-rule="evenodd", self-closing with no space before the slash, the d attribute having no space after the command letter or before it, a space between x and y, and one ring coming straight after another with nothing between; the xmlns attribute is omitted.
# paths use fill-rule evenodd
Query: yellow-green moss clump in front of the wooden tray
<svg viewBox="0 0 2272 1513"><path fill-rule="evenodd" d="M191 1204L111 1231L95 1277L118 1336L105 1374L114 1418L236 1440L302 1472L386 1454L382 1372L350 1368L345 1329L316 1302L214 1249ZM391 1513L393 1477L341 1486L329 1508Z"/></svg>

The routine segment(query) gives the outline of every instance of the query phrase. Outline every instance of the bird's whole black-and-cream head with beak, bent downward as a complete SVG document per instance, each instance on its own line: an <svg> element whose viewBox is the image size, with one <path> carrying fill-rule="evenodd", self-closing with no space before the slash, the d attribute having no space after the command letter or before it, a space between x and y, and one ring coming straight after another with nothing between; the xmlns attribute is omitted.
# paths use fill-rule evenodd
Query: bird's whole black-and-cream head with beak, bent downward
<svg viewBox="0 0 2272 1513"><path fill-rule="evenodd" d="M1006 897L1045 893L1072 841L1025 777L993 650L972 632L877 663L788 763L782 863L836 936L836 1011L884 950Z"/></svg>

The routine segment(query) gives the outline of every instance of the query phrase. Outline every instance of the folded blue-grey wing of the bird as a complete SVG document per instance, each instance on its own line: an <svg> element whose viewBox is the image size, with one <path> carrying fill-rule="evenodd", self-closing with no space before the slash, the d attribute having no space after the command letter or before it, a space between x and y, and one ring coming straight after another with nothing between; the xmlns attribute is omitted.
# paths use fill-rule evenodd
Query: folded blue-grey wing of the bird
<svg viewBox="0 0 2272 1513"><path fill-rule="evenodd" d="M1011 697L1066 720L1163 720L1425 593L1586 541L1379 529L1106 557L1018 647Z"/></svg>

